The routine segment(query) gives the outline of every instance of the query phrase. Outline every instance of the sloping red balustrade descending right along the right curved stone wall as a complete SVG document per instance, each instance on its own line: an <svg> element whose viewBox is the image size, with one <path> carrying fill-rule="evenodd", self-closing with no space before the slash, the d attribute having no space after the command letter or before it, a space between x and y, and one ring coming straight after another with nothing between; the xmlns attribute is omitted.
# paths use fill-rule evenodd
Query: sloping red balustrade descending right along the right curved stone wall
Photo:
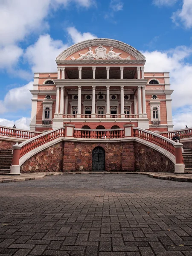
<svg viewBox="0 0 192 256"><path fill-rule="evenodd" d="M133 134L134 134L134 137L137 137L142 140L151 142L155 145L158 145L161 148L164 148L167 151L171 152L173 155L175 155L174 141L164 138L162 135L155 134L151 131L146 131L141 128L133 128Z"/></svg>

